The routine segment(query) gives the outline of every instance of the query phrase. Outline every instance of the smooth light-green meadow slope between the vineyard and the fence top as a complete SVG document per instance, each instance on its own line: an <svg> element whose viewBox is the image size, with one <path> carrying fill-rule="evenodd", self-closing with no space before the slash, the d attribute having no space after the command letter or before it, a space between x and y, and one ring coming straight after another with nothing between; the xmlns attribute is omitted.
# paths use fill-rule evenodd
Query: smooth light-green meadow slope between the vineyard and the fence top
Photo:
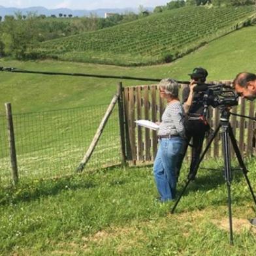
<svg viewBox="0 0 256 256"><path fill-rule="evenodd" d="M241 71L256 72L256 27L246 27L215 40L172 64L150 67L114 67L61 61L7 61L0 66L21 69L114 74L150 78L173 77L187 80L193 67L206 67L208 80L232 79ZM15 112L31 112L73 106L109 103L119 80L82 78L72 76L45 76L0 72L0 113L3 103L10 101ZM150 83L150 82L149 82ZM149 84L135 80L123 80L125 86Z"/></svg>

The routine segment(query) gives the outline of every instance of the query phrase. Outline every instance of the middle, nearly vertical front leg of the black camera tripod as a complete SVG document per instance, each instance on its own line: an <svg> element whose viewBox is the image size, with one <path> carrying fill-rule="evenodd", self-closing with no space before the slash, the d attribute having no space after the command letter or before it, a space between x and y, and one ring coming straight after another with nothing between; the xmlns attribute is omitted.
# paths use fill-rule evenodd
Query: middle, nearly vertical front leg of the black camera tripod
<svg viewBox="0 0 256 256"><path fill-rule="evenodd" d="M227 197L229 208L229 241L233 245L233 231L232 231L232 208L231 208L231 153L229 146L229 125L223 124L221 131L223 152L224 152L224 166L225 166L225 181L227 183Z"/></svg>

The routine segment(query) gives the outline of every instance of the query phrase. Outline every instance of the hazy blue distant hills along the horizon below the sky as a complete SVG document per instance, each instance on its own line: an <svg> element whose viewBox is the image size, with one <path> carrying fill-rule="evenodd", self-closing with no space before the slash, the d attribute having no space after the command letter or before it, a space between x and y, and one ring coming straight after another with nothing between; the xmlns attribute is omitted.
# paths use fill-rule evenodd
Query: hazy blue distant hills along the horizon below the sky
<svg viewBox="0 0 256 256"><path fill-rule="evenodd" d="M147 10L153 10L152 7L146 7ZM29 8L14 8L14 7L3 7L0 6L0 16L5 17L5 15L14 15L15 12L22 12L26 15L28 12L37 12L38 15L44 14L46 16L51 16L52 14L58 16L59 13L62 14L72 14L72 16L89 16L89 14L97 14L99 17L104 17L105 12L113 12L122 14L125 12L138 12L138 8L100 8L95 10L71 10L69 8L57 8L57 9L47 9L44 7L29 7Z"/></svg>

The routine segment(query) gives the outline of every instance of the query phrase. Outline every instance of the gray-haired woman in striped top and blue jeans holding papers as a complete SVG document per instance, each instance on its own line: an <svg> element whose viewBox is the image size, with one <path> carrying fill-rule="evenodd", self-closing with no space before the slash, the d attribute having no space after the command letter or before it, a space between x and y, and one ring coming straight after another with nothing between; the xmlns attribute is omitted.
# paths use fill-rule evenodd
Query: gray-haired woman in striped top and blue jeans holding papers
<svg viewBox="0 0 256 256"><path fill-rule="evenodd" d="M172 200L176 194L176 165L184 144L184 110L178 99L178 83L163 79L159 93L167 100L162 122L157 133L159 148L155 157L153 172L161 202Z"/></svg>

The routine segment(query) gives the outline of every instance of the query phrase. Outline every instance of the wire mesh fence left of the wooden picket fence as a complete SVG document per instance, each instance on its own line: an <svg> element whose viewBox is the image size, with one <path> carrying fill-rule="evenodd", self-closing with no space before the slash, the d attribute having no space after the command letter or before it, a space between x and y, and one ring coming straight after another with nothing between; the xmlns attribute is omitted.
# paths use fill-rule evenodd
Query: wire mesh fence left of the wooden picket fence
<svg viewBox="0 0 256 256"><path fill-rule="evenodd" d="M72 174L86 152L107 105L12 114L20 180ZM0 116L0 182L11 180L7 120ZM117 107L112 112L86 170L121 162Z"/></svg>

